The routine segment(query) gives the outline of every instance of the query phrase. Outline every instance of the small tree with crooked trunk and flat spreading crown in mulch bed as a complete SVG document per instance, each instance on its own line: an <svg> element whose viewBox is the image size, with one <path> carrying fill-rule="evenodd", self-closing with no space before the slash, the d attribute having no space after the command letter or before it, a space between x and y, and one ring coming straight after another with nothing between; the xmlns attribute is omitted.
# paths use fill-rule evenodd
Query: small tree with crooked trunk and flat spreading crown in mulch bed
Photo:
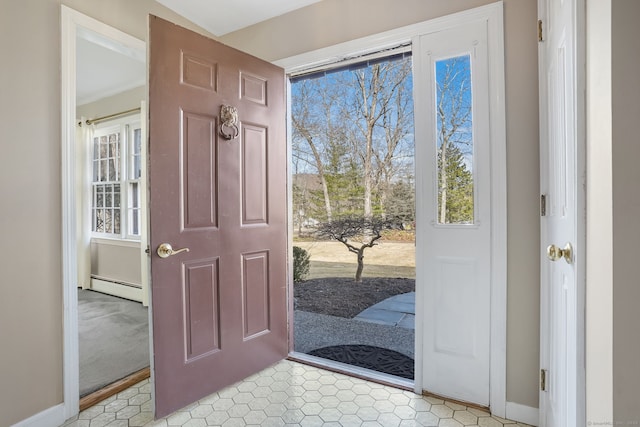
<svg viewBox="0 0 640 427"><path fill-rule="evenodd" d="M317 233L320 237L335 239L345 245L349 252L358 257L356 282L362 281L364 251L374 247L385 229L398 226L398 221L381 217L346 216L320 223Z"/></svg>

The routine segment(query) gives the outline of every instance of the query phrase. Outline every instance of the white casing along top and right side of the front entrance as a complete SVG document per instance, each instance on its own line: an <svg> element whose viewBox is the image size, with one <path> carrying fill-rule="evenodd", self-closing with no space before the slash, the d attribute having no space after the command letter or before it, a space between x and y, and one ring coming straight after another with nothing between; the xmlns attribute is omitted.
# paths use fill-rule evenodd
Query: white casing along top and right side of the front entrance
<svg viewBox="0 0 640 427"><path fill-rule="evenodd" d="M492 288L491 288L491 361L490 404L493 414L504 417L506 408L506 324L507 324L507 202L506 202L506 130L504 111L504 34L502 2L435 18L380 34L340 43L300 55L275 61L287 74L322 68L339 60L357 58L368 53L411 44L420 35L446 30L470 22L485 20L489 46L489 102L491 108L490 133L492 141ZM291 141L289 139L289 152ZM419 279L419 278L418 278ZM423 298L416 289L416 303ZM421 307L416 307L416 380L414 388L422 393L422 335L424 333Z"/></svg>

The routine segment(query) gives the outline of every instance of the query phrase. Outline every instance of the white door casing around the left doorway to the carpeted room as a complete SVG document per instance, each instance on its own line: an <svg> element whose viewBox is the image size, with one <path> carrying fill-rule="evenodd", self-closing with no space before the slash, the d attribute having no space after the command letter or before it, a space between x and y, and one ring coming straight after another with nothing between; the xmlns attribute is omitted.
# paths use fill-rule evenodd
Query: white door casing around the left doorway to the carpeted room
<svg viewBox="0 0 640 427"><path fill-rule="evenodd" d="M82 29L113 40L124 50L146 52L145 43L69 7L61 6L61 169L64 417L79 410L78 250L76 247L76 36ZM145 245L146 246L146 245Z"/></svg>

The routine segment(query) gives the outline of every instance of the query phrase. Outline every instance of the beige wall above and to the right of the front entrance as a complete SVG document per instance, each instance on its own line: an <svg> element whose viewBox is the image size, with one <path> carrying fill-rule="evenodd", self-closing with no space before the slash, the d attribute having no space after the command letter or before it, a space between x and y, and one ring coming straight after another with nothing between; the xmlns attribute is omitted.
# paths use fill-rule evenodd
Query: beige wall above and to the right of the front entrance
<svg viewBox="0 0 640 427"><path fill-rule="evenodd" d="M266 60L422 22L486 0L324 0L220 38ZM506 0L507 400L538 407L538 71L535 0ZM366 19L362 11L366 10Z"/></svg>

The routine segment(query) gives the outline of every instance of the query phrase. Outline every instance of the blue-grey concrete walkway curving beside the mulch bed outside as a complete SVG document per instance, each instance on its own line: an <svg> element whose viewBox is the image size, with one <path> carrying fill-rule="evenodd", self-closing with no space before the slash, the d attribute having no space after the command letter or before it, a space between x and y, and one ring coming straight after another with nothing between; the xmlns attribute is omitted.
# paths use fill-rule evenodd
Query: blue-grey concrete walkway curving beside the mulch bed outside
<svg viewBox="0 0 640 427"><path fill-rule="evenodd" d="M415 329L416 293L395 295L363 310L353 318L361 322Z"/></svg>

